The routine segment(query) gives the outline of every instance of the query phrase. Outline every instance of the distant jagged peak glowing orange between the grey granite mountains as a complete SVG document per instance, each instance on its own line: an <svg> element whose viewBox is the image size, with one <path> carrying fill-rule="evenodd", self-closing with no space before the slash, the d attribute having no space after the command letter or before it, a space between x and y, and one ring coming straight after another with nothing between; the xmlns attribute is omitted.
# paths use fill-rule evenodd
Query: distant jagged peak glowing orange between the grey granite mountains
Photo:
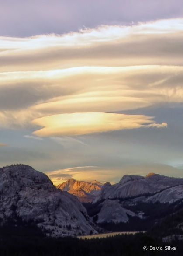
<svg viewBox="0 0 183 256"><path fill-rule="evenodd" d="M59 184L57 188L77 196L83 203L89 203L100 193L102 186L103 184L97 180L77 181L75 179L68 179L66 182Z"/></svg>

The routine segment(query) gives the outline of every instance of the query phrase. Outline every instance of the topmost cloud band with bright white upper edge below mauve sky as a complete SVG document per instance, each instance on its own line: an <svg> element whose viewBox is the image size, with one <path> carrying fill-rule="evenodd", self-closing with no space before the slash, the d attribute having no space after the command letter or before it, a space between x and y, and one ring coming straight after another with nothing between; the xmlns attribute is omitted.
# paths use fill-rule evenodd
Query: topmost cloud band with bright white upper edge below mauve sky
<svg viewBox="0 0 183 256"><path fill-rule="evenodd" d="M183 63L183 19L101 25L63 35L0 37L0 71ZM173 44L170 42L174 42Z"/></svg>

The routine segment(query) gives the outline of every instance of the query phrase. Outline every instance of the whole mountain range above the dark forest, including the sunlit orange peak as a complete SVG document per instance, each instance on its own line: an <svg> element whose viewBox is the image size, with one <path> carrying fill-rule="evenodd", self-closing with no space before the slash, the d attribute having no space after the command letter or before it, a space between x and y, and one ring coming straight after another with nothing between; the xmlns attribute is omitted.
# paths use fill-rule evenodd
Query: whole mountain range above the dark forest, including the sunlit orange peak
<svg viewBox="0 0 183 256"><path fill-rule="evenodd" d="M87 235L97 233L93 227L147 230L183 209L183 179L154 173L124 175L114 185L69 179L58 188L28 165L0 168L0 224L31 223L55 237Z"/></svg>

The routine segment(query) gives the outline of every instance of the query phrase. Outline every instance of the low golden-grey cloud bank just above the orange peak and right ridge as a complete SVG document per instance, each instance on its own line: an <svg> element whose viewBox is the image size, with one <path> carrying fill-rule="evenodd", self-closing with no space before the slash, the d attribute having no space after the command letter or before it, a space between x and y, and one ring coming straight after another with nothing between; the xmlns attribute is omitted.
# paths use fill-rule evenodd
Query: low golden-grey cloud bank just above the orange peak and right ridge
<svg viewBox="0 0 183 256"><path fill-rule="evenodd" d="M55 185L58 185L62 182L65 182L67 179L76 179L82 181L88 181L96 179L102 183L111 182L112 184L120 181L123 175L142 175L146 176L149 172L155 172L160 175L174 176L174 177L183 177L182 169L175 168L172 165L158 164L158 163L144 163L134 165L129 163L121 167L109 167L101 168L96 167L94 172L91 172L90 166L84 167L84 170L76 167L76 172L73 172L75 168L61 169L57 171L52 171L47 173L47 175L52 179L52 182ZM68 171L65 173L65 171ZM62 177L62 174L63 177ZM66 176L67 175L67 176Z"/></svg>

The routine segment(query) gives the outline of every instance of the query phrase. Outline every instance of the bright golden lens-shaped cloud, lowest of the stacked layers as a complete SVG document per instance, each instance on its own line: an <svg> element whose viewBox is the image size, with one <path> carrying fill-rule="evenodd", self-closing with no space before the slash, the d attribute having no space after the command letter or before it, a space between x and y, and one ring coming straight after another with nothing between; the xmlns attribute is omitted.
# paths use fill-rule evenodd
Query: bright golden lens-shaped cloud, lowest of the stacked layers
<svg viewBox="0 0 183 256"><path fill-rule="evenodd" d="M38 126L44 126L33 134L46 137L135 129L144 126L145 123L152 123L152 120L151 117L144 115L87 112L45 116L32 122Z"/></svg>

